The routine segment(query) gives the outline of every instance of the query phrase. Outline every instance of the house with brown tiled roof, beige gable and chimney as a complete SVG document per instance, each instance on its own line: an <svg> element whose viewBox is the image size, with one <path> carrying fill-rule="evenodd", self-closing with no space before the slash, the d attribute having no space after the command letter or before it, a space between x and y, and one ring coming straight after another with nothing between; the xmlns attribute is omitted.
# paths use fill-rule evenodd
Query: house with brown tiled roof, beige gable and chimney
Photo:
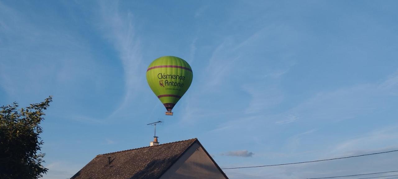
<svg viewBox="0 0 398 179"><path fill-rule="evenodd" d="M96 156L71 179L228 179L197 138Z"/></svg>

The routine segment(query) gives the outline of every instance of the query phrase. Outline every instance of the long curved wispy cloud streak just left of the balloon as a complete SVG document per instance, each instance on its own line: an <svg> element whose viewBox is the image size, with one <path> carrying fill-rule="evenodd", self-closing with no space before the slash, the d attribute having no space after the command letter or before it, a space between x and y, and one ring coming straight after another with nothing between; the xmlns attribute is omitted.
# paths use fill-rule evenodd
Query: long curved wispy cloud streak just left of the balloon
<svg viewBox="0 0 398 179"><path fill-rule="evenodd" d="M133 25L133 14L120 11L118 2L101 2L101 17L103 26L100 28L119 52L124 69L125 95L118 109L112 114L115 115L134 102L135 92L138 90L136 84L143 80L140 77L140 69L144 68L139 38Z"/></svg>

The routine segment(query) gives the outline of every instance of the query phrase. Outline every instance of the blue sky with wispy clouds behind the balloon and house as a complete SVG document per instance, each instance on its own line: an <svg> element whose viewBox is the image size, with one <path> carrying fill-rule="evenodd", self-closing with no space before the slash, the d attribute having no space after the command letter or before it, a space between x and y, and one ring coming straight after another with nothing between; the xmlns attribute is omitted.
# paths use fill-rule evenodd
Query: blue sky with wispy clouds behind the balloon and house
<svg viewBox="0 0 398 179"><path fill-rule="evenodd" d="M0 1L0 105L53 103L45 179L97 154L199 138L220 167L398 149L396 1ZM146 68L185 59L165 116ZM251 153L250 153L251 152ZM230 169L231 179L396 170L398 154ZM395 167L394 167L395 166Z"/></svg>

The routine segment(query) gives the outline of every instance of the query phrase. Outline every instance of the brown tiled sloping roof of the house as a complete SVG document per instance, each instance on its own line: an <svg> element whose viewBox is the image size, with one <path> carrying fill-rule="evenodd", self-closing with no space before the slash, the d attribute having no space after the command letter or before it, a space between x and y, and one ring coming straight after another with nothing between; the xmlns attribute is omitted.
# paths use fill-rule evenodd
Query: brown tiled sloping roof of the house
<svg viewBox="0 0 398 179"><path fill-rule="evenodd" d="M101 154L71 179L159 178L195 141L197 138Z"/></svg>

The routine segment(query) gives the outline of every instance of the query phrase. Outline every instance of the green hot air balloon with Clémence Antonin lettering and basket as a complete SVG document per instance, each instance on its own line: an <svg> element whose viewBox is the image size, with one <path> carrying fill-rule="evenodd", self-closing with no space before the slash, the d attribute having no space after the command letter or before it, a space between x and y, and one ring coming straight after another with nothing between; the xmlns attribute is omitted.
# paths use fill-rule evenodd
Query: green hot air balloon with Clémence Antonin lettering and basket
<svg viewBox="0 0 398 179"><path fill-rule="evenodd" d="M176 56L157 58L146 70L149 87L166 107L166 115L173 115L172 109L191 86L192 77L191 66Z"/></svg>

